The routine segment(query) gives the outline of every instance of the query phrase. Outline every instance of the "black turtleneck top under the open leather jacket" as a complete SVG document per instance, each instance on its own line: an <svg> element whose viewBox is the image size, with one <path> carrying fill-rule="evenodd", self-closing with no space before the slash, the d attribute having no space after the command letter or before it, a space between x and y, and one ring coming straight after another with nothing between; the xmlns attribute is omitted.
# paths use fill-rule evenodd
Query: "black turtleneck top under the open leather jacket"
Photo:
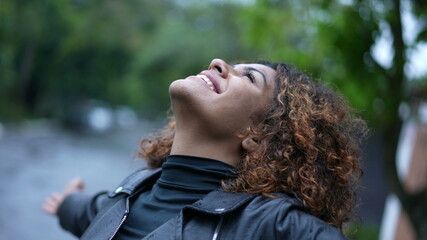
<svg viewBox="0 0 427 240"><path fill-rule="evenodd" d="M117 233L117 240L141 239L181 209L220 187L223 179L233 177L232 166L209 158L170 155L151 189L132 203L130 213Z"/></svg>

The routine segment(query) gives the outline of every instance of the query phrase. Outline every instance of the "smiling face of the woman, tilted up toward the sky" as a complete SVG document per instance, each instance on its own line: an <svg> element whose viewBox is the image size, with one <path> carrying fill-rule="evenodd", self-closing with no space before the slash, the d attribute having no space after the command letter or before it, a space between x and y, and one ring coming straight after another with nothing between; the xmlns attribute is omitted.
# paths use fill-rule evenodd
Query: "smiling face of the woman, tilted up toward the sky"
<svg viewBox="0 0 427 240"><path fill-rule="evenodd" d="M215 135L235 135L260 121L273 101L275 76L262 64L230 66L214 59L208 70L171 84L177 124L181 118Z"/></svg>

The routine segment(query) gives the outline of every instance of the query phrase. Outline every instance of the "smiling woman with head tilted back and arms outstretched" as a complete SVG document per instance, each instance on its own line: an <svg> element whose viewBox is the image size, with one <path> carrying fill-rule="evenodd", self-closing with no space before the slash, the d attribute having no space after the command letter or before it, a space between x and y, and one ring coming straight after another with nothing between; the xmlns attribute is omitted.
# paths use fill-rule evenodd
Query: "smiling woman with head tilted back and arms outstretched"
<svg viewBox="0 0 427 240"><path fill-rule="evenodd" d="M137 171L45 204L82 239L344 239L364 122L288 65L220 59L169 88L174 119L143 139Z"/></svg>

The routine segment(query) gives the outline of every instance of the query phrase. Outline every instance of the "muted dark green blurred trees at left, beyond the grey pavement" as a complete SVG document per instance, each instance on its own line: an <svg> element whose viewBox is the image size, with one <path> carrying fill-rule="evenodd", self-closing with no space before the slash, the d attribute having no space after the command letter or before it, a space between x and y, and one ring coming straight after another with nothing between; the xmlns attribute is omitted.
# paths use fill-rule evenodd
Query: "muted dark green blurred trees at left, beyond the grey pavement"
<svg viewBox="0 0 427 240"><path fill-rule="evenodd" d="M99 99L144 117L169 105L171 81L212 58L243 59L235 4L0 1L0 119L63 117Z"/></svg>

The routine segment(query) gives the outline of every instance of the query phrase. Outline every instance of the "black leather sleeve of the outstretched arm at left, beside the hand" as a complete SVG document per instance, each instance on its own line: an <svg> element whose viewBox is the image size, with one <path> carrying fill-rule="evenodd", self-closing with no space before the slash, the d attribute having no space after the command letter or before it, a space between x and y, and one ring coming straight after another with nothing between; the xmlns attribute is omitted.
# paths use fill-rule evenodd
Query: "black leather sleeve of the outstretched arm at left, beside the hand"
<svg viewBox="0 0 427 240"><path fill-rule="evenodd" d="M80 237L107 202L107 192L100 192L94 196L80 192L71 194L59 207L59 224L63 229Z"/></svg>

